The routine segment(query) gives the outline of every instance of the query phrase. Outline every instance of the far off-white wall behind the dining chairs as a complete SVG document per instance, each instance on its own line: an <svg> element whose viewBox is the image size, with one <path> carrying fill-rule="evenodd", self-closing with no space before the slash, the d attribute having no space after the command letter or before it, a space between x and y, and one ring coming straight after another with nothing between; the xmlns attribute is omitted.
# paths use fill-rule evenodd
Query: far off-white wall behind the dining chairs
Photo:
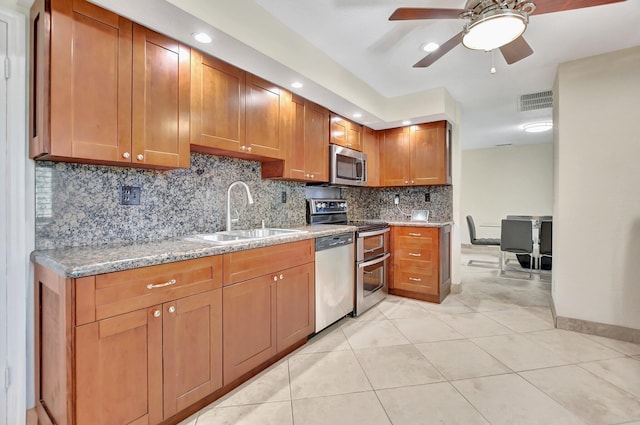
<svg viewBox="0 0 640 425"><path fill-rule="evenodd" d="M552 213L551 143L464 150L462 170L463 244L469 243L467 215L473 216L477 237L498 238L506 215Z"/></svg>

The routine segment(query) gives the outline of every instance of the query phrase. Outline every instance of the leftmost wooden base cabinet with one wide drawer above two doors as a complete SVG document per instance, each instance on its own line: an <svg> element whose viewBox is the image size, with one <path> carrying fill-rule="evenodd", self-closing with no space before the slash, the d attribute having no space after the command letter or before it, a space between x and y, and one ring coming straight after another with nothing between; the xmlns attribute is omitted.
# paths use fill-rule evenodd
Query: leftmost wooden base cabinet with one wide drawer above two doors
<svg viewBox="0 0 640 425"><path fill-rule="evenodd" d="M35 278L39 423L156 424L222 387L221 256Z"/></svg>

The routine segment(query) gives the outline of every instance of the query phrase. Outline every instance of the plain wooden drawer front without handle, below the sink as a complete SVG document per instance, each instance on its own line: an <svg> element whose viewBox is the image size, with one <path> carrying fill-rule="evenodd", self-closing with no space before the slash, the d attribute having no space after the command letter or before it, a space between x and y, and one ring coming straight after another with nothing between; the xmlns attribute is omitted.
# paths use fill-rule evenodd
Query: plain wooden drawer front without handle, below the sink
<svg viewBox="0 0 640 425"><path fill-rule="evenodd" d="M224 284L230 285L310 263L314 260L314 254L314 239L225 254Z"/></svg>

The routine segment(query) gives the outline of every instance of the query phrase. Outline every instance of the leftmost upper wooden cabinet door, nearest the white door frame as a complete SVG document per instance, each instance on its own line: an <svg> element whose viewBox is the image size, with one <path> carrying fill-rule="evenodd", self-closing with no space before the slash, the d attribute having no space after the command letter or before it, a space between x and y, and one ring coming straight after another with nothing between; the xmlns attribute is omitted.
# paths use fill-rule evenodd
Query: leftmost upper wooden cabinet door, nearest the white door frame
<svg viewBox="0 0 640 425"><path fill-rule="evenodd" d="M47 39L40 31L34 36L35 49L43 53ZM131 162L131 36L131 21L91 3L52 2L51 51L48 58L34 58L32 105L36 122L50 114L50 138L46 128L34 127L32 158ZM47 65L50 75L42 75Z"/></svg>

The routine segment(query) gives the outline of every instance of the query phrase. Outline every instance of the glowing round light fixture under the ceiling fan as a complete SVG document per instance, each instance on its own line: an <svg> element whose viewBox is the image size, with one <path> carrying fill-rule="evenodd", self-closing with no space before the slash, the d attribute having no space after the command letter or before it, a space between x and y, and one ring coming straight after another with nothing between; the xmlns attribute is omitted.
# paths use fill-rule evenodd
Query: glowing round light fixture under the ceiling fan
<svg viewBox="0 0 640 425"><path fill-rule="evenodd" d="M477 17L465 25L462 44L473 50L493 50L511 43L527 28L525 11L497 9Z"/></svg>

